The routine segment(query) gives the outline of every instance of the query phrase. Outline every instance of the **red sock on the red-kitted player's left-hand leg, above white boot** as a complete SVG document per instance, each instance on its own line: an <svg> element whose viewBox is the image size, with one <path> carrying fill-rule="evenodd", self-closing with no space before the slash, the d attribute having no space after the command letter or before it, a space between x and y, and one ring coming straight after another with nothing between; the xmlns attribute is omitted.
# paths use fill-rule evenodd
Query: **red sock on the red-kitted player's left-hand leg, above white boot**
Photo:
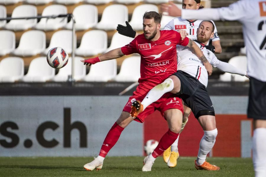
<svg viewBox="0 0 266 177"><path fill-rule="evenodd" d="M99 153L100 156L105 157L107 155L109 150L111 150L118 141L123 130L124 128L119 126L116 122L113 124L103 141L103 145Z"/></svg>

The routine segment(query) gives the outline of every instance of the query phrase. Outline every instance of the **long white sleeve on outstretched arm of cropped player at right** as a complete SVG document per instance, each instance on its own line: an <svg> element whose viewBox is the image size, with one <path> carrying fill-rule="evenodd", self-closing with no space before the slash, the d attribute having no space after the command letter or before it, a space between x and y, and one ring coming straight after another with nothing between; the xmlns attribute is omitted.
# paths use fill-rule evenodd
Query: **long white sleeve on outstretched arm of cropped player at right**
<svg viewBox="0 0 266 177"><path fill-rule="evenodd" d="M246 13L245 0L237 1L229 7L221 7L216 9L200 9L188 10L182 9L183 19L200 19L200 20L240 20L244 19L249 14Z"/></svg>

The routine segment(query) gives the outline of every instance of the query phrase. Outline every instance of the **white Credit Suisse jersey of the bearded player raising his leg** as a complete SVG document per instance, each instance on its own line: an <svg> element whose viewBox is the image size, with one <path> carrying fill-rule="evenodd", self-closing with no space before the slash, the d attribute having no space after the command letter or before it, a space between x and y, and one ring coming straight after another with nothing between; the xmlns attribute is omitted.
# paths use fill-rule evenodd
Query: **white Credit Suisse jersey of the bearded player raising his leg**
<svg viewBox="0 0 266 177"><path fill-rule="evenodd" d="M201 44L195 42L202 50L206 59L214 67L220 64L220 60L216 58L213 52L209 51ZM177 70L184 71L192 77L197 78L205 87L208 84L208 73L202 61L188 47L176 46L177 50Z"/></svg>

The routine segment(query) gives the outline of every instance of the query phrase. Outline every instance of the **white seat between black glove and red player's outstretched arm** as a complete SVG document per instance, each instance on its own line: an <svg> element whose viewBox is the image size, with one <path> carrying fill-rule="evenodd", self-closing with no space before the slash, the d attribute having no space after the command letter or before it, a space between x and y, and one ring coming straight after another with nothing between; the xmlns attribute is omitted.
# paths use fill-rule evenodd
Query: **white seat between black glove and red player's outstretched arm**
<svg viewBox="0 0 266 177"><path fill-rule="evenodd" d="M106 49L105 52L111 51L116 48L120 48L129 44L133 38L126 37L124 35L119 34L118 32L114 33L110 46Z"/></svg>

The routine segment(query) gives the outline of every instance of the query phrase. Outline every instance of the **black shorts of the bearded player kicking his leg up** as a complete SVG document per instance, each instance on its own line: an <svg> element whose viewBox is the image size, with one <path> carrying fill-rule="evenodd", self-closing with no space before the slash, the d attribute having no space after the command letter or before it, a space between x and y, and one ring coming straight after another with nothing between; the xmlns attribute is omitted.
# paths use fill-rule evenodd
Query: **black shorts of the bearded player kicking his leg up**
<svg viewBox="0 0 266 177"><path fill-rule="evenodd" d="M195 77L180 70L172 75L178 77L181 82L180 92L176 94L182 98L187 107L191 108L197 119L205 115L215 116L213 103L205 85Z"/></svg>

